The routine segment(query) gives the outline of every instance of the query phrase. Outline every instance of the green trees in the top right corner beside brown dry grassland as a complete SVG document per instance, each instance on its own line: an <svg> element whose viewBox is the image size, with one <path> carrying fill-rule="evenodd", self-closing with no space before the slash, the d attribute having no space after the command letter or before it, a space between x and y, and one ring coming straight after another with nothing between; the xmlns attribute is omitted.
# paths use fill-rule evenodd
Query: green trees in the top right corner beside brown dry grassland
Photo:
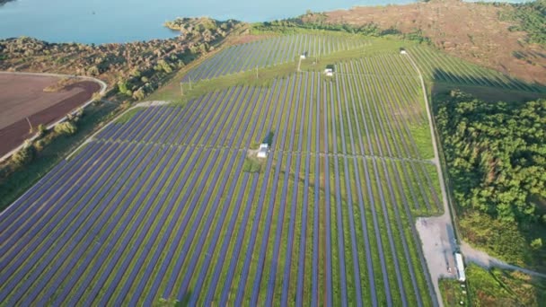
<svg viewBox="0 0 546 307"><path fill-rule="evenodd" d="M501 20L519 23L519 25L511 26L508 30L525 31L528 42L546 46L546 0L497 5L513 6L512 10L501 11L499 16Z"/></svg>

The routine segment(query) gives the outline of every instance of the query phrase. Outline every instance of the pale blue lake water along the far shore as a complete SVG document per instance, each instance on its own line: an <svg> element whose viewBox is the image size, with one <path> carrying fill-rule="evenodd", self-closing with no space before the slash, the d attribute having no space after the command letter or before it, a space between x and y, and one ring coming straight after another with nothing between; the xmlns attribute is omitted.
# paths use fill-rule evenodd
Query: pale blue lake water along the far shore
<svg viewBox="0 0 546 307"><path fill-rule="evenodd" d="M175 35L163 22L207 15L265 22L355 5L412 0L16 0L0 6L0 39L30 36L54 42L127 42Z"/></svg>

